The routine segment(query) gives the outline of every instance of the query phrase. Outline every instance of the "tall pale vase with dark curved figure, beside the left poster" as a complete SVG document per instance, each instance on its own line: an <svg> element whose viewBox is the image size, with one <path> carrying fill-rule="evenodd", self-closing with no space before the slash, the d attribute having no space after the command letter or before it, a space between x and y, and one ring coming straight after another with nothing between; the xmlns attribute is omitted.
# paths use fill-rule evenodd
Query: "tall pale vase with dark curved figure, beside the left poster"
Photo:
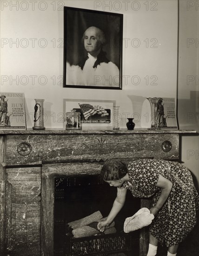
<svg viewBox="0 0 199 256"><path fill-rule="evenodd" d="M44 101L43 99L34 99L34 126L33 130L45 130L44 127Z"/></svg>

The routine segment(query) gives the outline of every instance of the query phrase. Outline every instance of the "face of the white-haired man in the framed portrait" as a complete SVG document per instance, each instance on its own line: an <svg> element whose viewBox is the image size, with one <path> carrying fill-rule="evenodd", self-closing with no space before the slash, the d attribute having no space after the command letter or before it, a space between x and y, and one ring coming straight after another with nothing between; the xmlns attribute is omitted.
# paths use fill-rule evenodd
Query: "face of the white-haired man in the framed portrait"
<svg viewBox="0 0 199 256"><path fill-rule="evenodd" d="M102 44L100 40L101 30L98 27L89 27L84 33L84 47L90 54L99 53Z"/></svg>

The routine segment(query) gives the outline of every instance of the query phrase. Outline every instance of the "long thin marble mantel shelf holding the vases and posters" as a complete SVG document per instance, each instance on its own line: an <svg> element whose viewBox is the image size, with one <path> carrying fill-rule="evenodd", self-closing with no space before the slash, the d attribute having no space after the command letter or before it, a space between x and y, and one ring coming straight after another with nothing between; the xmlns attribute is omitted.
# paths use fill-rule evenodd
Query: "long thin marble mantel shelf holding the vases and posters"
<svg viewBox="0 0 199 256"><path fill-rule="evenodd" d="M103 130L103 129L81 129L81 130L65 130L65 129L46 129L46 130L0 130L0 135L36 135L36 134L196 134L195 130L152 130L152 129L135 129L135 130L127 130L127 129L119 129L119 130Z"/></svg>

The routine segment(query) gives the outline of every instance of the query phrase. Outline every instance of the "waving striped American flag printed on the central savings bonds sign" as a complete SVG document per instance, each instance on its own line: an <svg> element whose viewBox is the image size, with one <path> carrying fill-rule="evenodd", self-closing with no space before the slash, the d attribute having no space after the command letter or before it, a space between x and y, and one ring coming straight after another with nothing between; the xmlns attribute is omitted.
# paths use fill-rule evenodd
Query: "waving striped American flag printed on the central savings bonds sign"
<svg viewBox="0 0 199 256"><path fill-rule="evenodd" d="M90 104L79 104L79 105L85 120L87 120L89 116L95 115L95 114L98 114L101 116L109 115L108 112L100 106L92 106Z"/></svg>

